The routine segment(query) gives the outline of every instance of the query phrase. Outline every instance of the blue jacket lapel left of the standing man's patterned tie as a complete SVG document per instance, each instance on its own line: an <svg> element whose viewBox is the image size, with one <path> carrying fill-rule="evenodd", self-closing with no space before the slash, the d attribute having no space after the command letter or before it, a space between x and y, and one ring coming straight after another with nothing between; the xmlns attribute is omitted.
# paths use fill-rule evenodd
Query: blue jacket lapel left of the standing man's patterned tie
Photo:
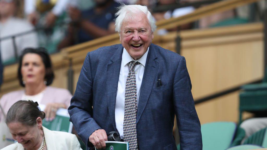
<svg viewBox="0 0 267 150"><path fill-rule="evenodd" d="M107 68L107 102L108 102L108 111L114 129L116 130L115 123L115 105L116 105L116 95L117 88L120 76L120 65L121 65L121 56L123 52L123 47L120 46L116 52L113 54L111 59L108 62Z"/></svg>

